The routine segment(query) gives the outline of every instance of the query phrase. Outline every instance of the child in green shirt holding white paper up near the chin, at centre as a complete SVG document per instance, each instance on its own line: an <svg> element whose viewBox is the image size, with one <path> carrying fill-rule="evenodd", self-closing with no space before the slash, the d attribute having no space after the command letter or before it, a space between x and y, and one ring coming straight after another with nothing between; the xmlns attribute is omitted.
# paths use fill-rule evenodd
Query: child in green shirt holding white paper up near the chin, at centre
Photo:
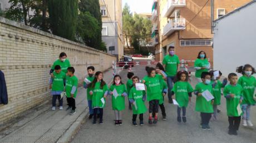
<svg viewBox="0 0 256 143"><path fill-rule="evenodd" d="M144 126L143 114L147 111L147 108L144 103L146 100L146 92L145 90L136 90L135 84L140 83L140 79L138 76L134 76L132 78L132 83L134 84L134 86L131 88L129 94L129 101L133 105L132 125L137 126L136 118L137 115L139 115L140 125ZM137 109L135 107L137 107Z"/></svg>

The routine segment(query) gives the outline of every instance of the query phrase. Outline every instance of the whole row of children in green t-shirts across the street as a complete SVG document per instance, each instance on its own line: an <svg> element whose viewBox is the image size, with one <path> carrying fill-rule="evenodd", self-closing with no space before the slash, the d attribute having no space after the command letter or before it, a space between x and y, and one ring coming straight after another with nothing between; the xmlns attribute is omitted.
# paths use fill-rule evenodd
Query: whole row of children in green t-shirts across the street
<svg viewBox="0 0 256 143"><path fill-rule="evenodd" d="M126 86L121 81L120 75L115 75L110 88L103 80L103 73L96 72L94 67L87 68L88 76L83 82L83 87L87 89L87 100L89 107L89 119L93 118L93 124L96 124L97 118L99 124L103 123L103 108L105 107L106 97L112 97L112 110L115 113L115 125L122 125L122 111L125 109L125 97L129 99L129 108L132 109L132 124L137 126L136 118L139 115L139 124L144 125L143 114L147 108L145 101L149 102L149 124L156 124L159 119L158 109L160 106L163 120L166 120L164 96L168 92L166 85L166 74L163 65L158 63L155 68L146 67L147 75L140 80L134 73L127 74ZM215 73L218 72L218 76ZM61 72L60 66L55 66L50 88L52 89L52 110L55 110L56 99L60 101L62 109L61 93L66 91L68 108L71 115L75 114L75 97L77 94L78 79L75 75L75 69L67 69L67 76ZM210 130L210 119L217 120L218 105L220 105L221 89L227 101L227 115L229 121L230 135L237 135L239 129L240 117L242 116L244 126L253 126L250 121L250 106L256 102L254 100L254 90L256 79L253 74L254 68L246 64L237 68L237 73L243 74L238 80L235 73L230 73L228 79L220 82L220 71L210 71L201 73L201 83L196 84L195 89L190 85L189 75L186 71L179 71L176 75L176 81L171 90L172 98L177 102L177 121L186 122L186 107L191 100L192 93L196 95L195 110L200 112L201 129ZM65 82L66 80L66 82ZM229 84L227 85L229 80ZM65 84L66 83L66 84ZM138 90L137 83L143 83L145 90ZM214 99L206 100L205 94L210 93ZM182 116L181 116L182 111Z"/></svg>

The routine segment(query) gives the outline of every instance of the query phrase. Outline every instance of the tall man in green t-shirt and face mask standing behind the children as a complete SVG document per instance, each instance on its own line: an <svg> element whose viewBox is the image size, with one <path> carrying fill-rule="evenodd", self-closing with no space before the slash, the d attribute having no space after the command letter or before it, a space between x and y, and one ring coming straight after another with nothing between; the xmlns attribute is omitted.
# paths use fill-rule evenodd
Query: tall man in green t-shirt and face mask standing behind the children
<svg viewBox="0 0 256 143"><path fill-rule="evenodd" d="M174 54L173 46L170 46L168 51L169 51L169 55L165 55L163 60L163 65L165 66L165 72L167 75L166 81L168 85L169 103L173 103L173 100L171 99L171 89L173 89L173 80L175 78L175 75L179 71L180 60L178 55Z"/></svg>

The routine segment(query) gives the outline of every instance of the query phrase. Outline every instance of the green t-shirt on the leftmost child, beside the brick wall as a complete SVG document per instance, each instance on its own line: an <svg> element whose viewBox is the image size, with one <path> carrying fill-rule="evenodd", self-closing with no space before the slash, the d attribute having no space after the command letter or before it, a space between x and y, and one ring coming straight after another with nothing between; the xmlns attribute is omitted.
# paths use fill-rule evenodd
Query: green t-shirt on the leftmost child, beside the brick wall
<svg viewBox="0 0 256 143"><path fill-rule="evenodd" d="M63 72L53 72L54 78L52 79L52 91L63 91L64 90L64 79L66 74Z"/></svg>

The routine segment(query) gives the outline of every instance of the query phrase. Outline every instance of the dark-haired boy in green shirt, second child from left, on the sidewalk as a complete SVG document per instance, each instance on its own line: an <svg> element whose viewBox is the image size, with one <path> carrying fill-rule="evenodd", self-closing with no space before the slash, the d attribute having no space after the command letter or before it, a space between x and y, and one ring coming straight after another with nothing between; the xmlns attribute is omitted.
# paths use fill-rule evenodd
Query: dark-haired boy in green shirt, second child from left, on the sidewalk
<svg viewBox="0 0 256 143"><path fill-rule="evenodd" d="M67 111L70 111L70 115L76 113L76 94L77 94L77 86L78 86L78 79L74 75L75 69L73 67L67 68L67 80L66 80L66 94L67 94L67 104L68 108Z"/></svg>

